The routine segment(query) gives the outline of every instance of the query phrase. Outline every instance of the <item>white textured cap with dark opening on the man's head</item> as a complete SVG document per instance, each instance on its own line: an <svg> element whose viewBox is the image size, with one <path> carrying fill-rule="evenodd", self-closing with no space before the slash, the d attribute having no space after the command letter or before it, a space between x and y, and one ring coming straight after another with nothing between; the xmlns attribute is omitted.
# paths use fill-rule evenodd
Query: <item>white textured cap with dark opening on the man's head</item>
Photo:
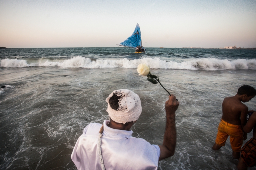
<svg viewBox="0 0 256 170"><path fill-rule="evenodd" d="M109 104L109 99L115 94L119 99L119 107L116 110L112 109ZM127 123L134 122L139 119L142 107L140 98L131 90L120 89L114 90L108 98L106 98L108 103L108 109L106 111L109 113L109 117L117 123Z"/></svg>

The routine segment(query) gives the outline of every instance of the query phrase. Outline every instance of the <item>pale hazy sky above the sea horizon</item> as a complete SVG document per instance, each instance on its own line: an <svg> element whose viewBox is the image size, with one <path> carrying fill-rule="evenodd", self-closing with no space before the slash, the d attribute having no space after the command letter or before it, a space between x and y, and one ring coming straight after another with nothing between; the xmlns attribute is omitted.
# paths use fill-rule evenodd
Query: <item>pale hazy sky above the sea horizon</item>
<svg viewBox="0 0 256 170"><path fill-rule="evenodd" d="M0 0L0 47L256 47L256 0Z"/></svg>

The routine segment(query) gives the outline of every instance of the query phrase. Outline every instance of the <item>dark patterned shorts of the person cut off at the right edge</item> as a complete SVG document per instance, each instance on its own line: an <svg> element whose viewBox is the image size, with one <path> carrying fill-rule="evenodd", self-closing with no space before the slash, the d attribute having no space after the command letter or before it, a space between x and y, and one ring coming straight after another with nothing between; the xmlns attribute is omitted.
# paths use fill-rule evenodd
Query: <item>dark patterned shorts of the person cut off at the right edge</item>
<svg viewBox="0 0 256 170"><path fill-rule="evenodd" d="M254 167L256 164L256 139L253 137L246 142L241 149L241 158L247 167Z"/></svg>

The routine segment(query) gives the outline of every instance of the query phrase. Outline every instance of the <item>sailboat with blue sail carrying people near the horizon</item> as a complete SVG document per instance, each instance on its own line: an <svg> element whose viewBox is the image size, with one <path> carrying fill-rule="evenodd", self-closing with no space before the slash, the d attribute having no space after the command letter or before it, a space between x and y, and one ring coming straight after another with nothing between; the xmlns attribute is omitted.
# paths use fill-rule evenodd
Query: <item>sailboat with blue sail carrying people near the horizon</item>
<svg viewBox="0 0 256 170"><path fill-rule="evenodd" d="M141 33L140 33L140 26L137 23L135 30L129 36L124 42L117 44L118 46L123 46L123 47L129 47L129 48L135 48L136 51L135 53L142 53L145 52L146 49L142 46L141 43Z"/></svg>

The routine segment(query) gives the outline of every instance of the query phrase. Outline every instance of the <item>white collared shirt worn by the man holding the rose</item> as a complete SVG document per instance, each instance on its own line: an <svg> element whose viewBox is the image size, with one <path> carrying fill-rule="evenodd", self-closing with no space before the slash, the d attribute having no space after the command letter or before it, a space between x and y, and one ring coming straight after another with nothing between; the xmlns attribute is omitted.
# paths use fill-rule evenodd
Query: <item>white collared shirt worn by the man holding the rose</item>
<svg viewBox="0 0 256 170"><path fill-rule="evenodd" d="M106 170L157 170L160 148L144 139L132 137L132 131L112 129L103 123L101 152ZM90 123L78 138L71 159L78 170L101 170L98 137L102 124Z"/></svg>

